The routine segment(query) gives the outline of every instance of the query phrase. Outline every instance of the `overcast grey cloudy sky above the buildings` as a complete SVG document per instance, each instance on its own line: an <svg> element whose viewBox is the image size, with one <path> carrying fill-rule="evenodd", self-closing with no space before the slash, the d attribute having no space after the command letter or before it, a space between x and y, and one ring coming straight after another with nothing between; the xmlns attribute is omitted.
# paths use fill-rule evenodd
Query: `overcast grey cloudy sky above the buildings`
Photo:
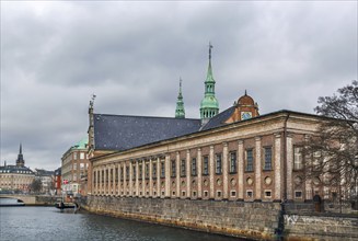
<svg viewBox="0 0 358 241"><path fill-rule="evenodd" d="M208 46L220 111L314 113L357 80L357 1L1 1L1 165L55 170L94 113L199 118Z"/></svg>

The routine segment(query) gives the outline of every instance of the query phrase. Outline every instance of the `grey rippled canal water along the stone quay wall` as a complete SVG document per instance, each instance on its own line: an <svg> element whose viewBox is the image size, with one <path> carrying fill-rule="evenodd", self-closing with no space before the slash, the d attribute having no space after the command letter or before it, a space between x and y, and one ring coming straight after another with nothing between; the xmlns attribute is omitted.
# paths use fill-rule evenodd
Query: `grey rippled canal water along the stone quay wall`
<svg viewBox="0 0 358 241"><path fill-rule="evenodd" d="M233 241L230 237L55 207L0 207L0 240Z"/></svg>

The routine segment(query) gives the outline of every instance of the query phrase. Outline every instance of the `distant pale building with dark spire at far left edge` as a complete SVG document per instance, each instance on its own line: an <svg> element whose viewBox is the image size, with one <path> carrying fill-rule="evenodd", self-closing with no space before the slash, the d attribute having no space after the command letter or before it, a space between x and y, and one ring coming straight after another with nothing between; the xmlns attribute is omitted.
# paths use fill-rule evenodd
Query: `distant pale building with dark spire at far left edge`
<svg viewBox="0 0 358 241"><path fill-rule="evenodd" d="M9 165L4 162L4 165L0 167L0 190L27 193L34 179L35 173L25 167L22 145L20 145L16 164Z"/></svg>

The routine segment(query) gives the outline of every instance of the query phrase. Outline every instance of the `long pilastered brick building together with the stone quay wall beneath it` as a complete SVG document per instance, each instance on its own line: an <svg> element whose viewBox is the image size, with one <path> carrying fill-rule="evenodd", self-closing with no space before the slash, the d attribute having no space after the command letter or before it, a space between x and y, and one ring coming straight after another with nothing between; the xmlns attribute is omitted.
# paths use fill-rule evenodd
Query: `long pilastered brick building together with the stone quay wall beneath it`
<svg viewBox="0 0 358 241"><path fill-rule="evenodd" d="M324 119L259 115L246 91L219 112L209 65L200 119L96 114L89 108L90 210L255 239L273 239L280 202L331 195L302 173L302 142Z"/></svg>

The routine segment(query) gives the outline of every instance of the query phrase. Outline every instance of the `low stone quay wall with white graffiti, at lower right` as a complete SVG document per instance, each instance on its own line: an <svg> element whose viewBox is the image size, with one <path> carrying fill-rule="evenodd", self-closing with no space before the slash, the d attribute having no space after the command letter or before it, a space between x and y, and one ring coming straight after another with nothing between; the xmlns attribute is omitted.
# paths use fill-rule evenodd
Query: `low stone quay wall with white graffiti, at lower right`
<svg viewBox="0 0 358 241"><path fill-rule="evenodd" d="M358 216L285 215L285 240L358 240Z"/></svg>

